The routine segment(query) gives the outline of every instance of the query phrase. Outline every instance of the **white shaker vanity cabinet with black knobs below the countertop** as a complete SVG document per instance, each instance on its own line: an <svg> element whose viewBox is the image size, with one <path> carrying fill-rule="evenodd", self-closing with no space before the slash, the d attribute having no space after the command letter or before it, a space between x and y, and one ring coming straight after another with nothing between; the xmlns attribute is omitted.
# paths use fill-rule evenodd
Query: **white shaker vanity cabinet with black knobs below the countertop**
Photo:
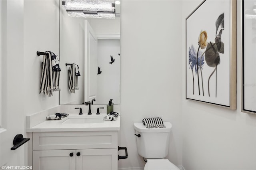
<svg viewBox="0 0 256 170"><path fill-rule="evenodd" d="M33 132L34 170L117 170L118 131Z"/></svg>

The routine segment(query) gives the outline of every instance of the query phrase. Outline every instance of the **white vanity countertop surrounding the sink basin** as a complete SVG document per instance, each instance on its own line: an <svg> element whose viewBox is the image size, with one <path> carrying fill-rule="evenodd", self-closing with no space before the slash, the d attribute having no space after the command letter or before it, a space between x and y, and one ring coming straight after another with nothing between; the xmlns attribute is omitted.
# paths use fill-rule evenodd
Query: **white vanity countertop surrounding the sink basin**
<svg viewBox="0 0 256 170"><path fill-rule="evenodd" d="M78 115L69 114L61 120L48 120L31 128L26 128L27 132L70 132L70 131L112 131L120 130L120 116L116 121L103 121L102 123L63 123L69 118L95 118L103 117L106 114L101 115Z"/></svg>

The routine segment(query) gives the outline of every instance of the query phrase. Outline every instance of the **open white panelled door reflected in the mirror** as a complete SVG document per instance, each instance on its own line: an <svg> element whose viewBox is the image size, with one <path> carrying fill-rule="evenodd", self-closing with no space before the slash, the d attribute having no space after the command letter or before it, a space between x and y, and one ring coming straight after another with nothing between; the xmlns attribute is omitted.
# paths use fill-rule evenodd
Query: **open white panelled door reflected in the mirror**
<svg viewBox="0 0 256 170"><path fill-rule="evenodd" d="M96 99L97 38L87 20L84 21L84 55L84 100L91 101Z"/></svg>

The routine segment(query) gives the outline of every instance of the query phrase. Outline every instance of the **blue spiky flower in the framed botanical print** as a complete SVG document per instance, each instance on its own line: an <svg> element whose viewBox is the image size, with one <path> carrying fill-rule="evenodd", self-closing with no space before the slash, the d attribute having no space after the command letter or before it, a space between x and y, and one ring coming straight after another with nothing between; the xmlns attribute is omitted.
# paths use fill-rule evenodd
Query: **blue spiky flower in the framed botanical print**
<svg viewBox="0 0 256 170"><path fill-rule="evenodd" d="M191 45L191 47L189 47L189 50L188 50L188 64L190 65L189 68L192 71L195 68L195 71L196 71L196 74L197 74L196 55L197 55L197 53L196 53L195 47L194 47L194 45ZM201 67L201 69L202 69L202 66L204 65L204 53L202 54L202 52L199 51L198 56L199 56L197 58L198 68Z"/></svg>

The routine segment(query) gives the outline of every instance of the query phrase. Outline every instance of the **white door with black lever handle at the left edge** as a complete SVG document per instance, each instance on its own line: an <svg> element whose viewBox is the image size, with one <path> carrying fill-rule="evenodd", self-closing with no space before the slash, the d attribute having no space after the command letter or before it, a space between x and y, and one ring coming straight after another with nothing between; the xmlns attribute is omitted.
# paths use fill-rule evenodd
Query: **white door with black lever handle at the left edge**
<svg viewBox="0 0 256 170"><path fill-rule="evenodd" d="M16 134L26 138L23 109L24 91L24 39L23 1L0 1L0 57L1 57L1 108L0 108L0 165L26 166L25 146L11 150ZM21 22L22 21L22 22ZM18 55L17 55L18 53ZM15 68L15 69L14 69Z"/></svg>

